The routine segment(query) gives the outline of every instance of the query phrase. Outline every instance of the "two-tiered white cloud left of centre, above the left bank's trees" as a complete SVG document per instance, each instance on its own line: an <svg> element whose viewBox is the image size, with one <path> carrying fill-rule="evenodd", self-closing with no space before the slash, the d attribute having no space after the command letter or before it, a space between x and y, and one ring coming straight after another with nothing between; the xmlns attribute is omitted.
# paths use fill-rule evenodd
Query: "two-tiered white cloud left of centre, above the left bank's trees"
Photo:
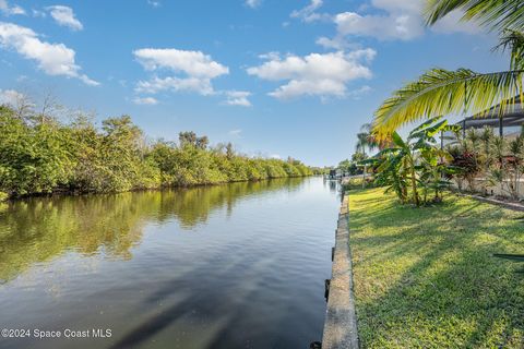
<svg viewBox="0 0 524 349"><path fill-rule="evenodd" d="M214 94L212 80L229 73L229 69L201 51L144 48L133 51L136 60L147 71L170 71L182 76L153 76L141 81L138 92L188 91L201 95Z"/></svg>

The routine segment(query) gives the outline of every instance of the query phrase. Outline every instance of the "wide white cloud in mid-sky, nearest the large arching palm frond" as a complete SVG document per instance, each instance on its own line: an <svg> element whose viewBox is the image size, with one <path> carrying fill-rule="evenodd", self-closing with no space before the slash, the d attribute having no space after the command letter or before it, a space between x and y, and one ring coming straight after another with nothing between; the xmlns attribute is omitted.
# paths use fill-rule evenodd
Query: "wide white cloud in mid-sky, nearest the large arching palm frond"
<svg viewBox="0 0 524 349"><path fill-rule="evenodd" d="M287 56L273 58L262 65L249 68L248 74L267 81L287 81L269 95L278 99L299 96L347 95L347 83L357 79L370 79L371 70L366 67L376 56L372 49L352 52L311 53L306 57Z"/></svg>

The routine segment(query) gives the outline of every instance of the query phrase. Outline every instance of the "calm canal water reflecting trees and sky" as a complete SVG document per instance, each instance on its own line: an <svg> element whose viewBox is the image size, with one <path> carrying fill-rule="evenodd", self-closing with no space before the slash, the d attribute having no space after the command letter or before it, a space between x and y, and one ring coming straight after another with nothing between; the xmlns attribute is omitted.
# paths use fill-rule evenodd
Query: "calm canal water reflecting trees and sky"
<svg viewBox="0 0 524 349"><path fill-rule="evenodd" d="M0 348L308 348L338 205L322 178L2 205Z"/></svg>

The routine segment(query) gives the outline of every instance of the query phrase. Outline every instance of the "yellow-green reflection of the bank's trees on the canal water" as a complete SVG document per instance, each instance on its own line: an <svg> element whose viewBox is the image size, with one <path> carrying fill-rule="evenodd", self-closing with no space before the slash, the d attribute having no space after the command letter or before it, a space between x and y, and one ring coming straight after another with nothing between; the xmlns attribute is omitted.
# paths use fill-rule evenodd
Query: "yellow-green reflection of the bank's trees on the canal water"
<svg viewBox="0 0 524 349"><path fill-rule="evenodd" d="M34 263L66 251L131 258L146 222L176 218L184 229L205 222L213 209L227 207L243 196L288 188L301 179L241 182L115 195L64 196L17 201L0 209L0 282Z"/></svg>

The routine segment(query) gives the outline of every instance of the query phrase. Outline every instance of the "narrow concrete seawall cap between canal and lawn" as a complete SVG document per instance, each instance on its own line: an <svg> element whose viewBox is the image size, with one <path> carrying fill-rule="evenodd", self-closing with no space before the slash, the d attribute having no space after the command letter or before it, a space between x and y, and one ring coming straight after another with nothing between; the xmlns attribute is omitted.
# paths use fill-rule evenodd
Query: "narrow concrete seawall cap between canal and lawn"
<svg viewBox="0 0 524 349"><path fill-rule="evenodd" d="M322 336L322 349L358 348L348 219L348 196L345 195L338 214L338 226L335 233L333 268Z"/></svg>

